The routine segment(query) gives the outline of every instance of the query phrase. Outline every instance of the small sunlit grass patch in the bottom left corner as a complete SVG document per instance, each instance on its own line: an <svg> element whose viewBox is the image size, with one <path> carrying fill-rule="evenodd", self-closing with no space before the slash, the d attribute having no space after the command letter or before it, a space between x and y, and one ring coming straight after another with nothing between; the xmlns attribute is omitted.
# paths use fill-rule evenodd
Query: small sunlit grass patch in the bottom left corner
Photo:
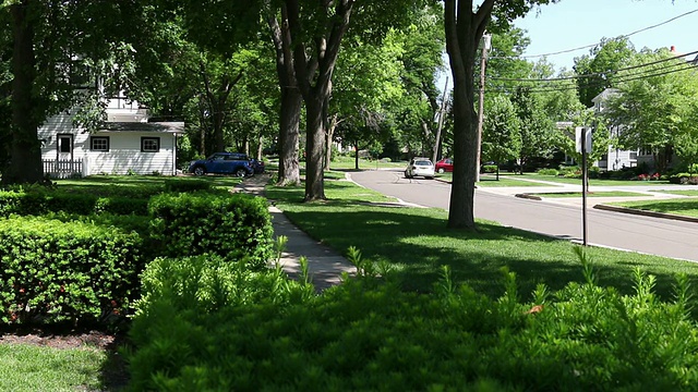
<svg viewBox="0 0 698 392"><path fill-rule="evenodd" d="M0 344L0 391L101 391L106 363L98 350Z"/></svg>

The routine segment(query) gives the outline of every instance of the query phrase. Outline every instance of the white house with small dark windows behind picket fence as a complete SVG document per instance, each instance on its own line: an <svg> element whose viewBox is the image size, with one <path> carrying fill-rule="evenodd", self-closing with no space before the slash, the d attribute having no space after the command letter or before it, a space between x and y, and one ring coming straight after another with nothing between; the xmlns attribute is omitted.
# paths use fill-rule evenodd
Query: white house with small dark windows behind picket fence
<svg viewBox="0 0 698 392"><path fill-rule="evenodd" d="M92 133L75 127L70 111L48 119L38 131L44 172L57 177L177 173L183 122L149 122L147 109L123 96L110 99L106 112L103 128Z"/></svg>

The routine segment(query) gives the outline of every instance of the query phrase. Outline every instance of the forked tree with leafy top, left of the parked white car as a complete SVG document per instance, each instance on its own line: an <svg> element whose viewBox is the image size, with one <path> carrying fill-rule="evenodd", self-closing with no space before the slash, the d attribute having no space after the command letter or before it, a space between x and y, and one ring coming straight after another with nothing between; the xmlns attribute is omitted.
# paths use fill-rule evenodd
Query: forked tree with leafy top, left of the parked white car
<svg viewBox="0 0 698 392"><path fill-rule="evenodd" d="M341 41L350 22L353 33L364 39L380 40L390 25L405 21L421 1L370 0L266 0L277 45L277 60L284 66L279 83L294 82L305 103L305 196L306 201L324 199L323 158L325 157L326 108L332 94L332 77ZM278 25L279 28L274 26ZM275 41L277 41L275 39ZM292 81L289 81L291 79ZM284 102L282 102L284 108ZM284 110L284 109L282 109ZM288 143L288 142L287 142Z"/></svg>

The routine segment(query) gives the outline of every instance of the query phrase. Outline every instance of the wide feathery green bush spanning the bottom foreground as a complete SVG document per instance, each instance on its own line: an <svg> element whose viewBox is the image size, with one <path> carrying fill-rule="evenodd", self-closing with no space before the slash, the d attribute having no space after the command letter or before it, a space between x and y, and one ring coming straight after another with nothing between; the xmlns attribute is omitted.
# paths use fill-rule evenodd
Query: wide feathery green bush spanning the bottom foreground
<svg viewBox="0 0 698 392"><path fill-rule="evenodd" d="M312 296L277 271L220 259L159 260L144 274L131 330L134 390L604 391L693 390L698 328L687 280L676 301L594 283L539 285L521 303L513 273L492 301L454 287L435 294L359 279ZM366 264L360 268L366 271Z"/></svg>

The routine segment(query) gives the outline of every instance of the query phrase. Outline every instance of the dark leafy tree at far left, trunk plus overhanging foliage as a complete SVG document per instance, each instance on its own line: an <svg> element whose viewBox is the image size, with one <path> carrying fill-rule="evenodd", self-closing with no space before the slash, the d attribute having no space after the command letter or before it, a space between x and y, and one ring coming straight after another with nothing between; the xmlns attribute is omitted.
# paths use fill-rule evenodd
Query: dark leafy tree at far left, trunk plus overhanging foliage
<svg viewBox="0 0 698 392"><path fill-rule="evenodd" d="M118 73L104 66L123 46L115 47L124 29L123 17L137 7L130 1L5 0L0 20L11 33L11 122L4 148L9 160L2 182L44 180L38 127L51 114L85 97L76 87L97 73ZM7 52L3 52L3 57ZM105 87L109 87L106 86ZM7 91L5 87L0 90Z"/></svg>

